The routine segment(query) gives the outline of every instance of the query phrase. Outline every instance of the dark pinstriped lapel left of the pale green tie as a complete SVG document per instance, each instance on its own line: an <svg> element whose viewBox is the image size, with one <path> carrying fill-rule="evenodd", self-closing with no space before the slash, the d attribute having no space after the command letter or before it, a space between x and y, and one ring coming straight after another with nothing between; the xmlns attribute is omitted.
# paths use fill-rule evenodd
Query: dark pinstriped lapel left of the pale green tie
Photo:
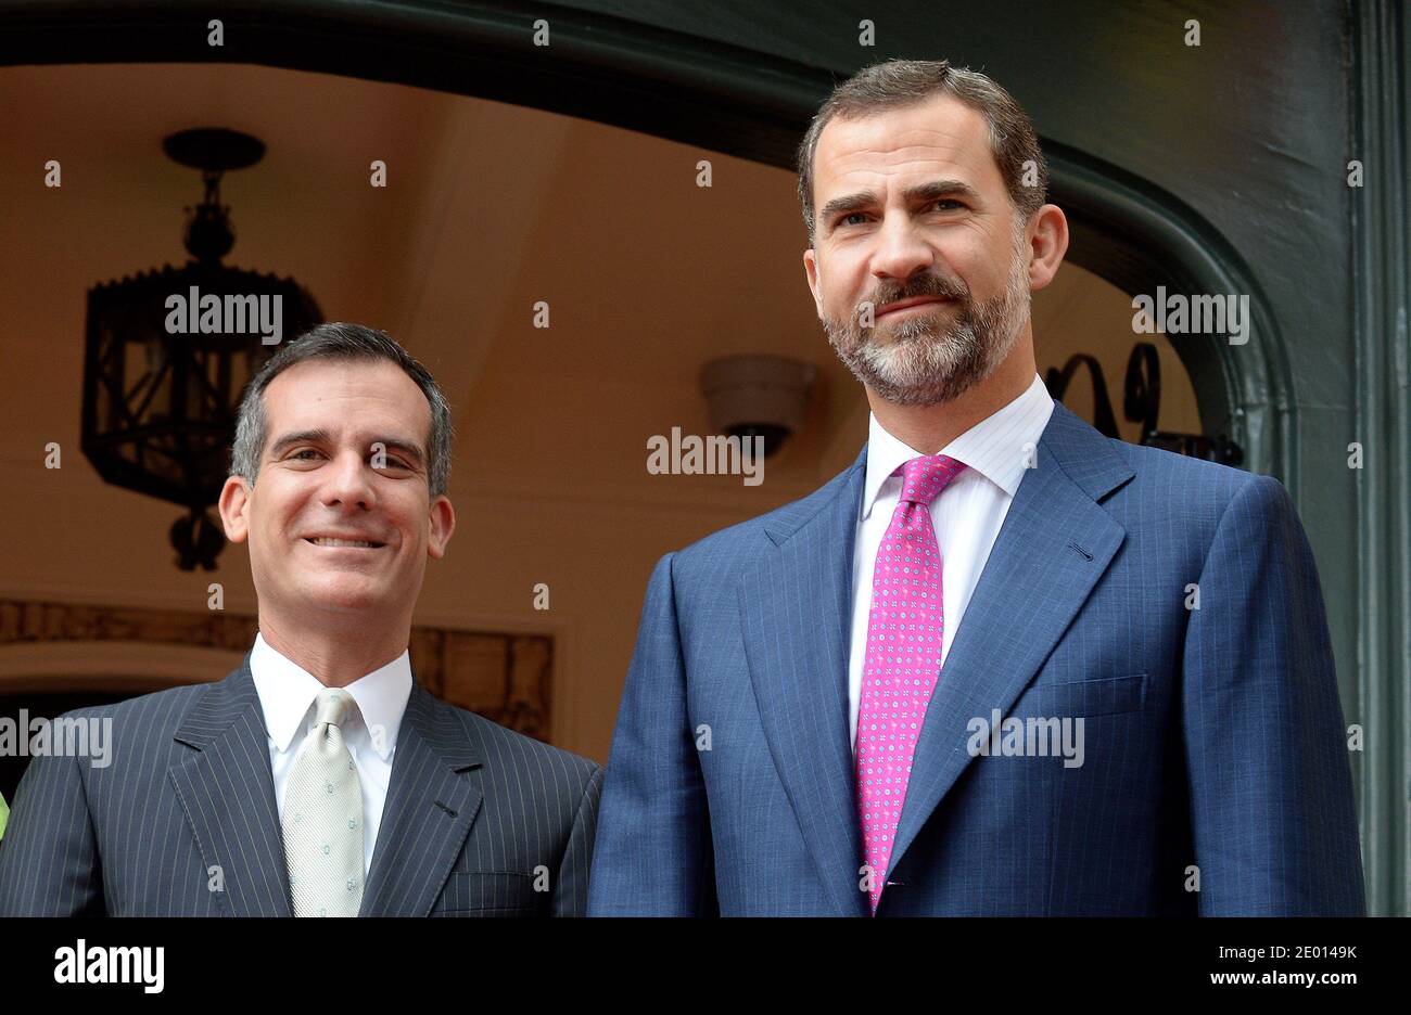
<svg viewBox="0 0 1411 1015"><path fill-rule="evenodd" d="M200 695L175 739L195 750L169 770L213 887L236 916L289 916L289 874L270 742L250 657Z"/></svg>

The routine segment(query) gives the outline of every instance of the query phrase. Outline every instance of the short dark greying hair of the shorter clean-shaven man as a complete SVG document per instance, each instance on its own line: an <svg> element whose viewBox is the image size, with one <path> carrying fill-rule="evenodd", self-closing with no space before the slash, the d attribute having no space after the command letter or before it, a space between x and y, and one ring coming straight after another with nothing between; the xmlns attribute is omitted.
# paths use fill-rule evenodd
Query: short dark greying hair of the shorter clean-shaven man
<svg viewBox="0 0 1411 1015"><path fill-rule="evenodd" d="M309 359L387 359L396 364L416 382L432 409L432 429L426 440L426 482L432 498L446 492L450 481L452 431L450 405L432 378L412 355L391 336L363 324L319 324L292 340L265 362L250 381L236 417L236 443L230 448L230 474L243 476L251 486L260 474L264 457L265 406L264 390L279 374Z"/></svg>

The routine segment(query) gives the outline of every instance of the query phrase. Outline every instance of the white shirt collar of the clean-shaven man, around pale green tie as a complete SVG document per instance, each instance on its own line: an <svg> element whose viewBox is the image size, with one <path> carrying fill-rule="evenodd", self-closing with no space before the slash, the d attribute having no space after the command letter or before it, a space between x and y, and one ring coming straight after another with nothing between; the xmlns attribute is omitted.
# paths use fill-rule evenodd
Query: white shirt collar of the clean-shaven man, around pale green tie
<svg viewBox="0 0 1411 1015"><path fill-rule="evenodd" d="M260 694L264 709L265 730L279 753L289 750L293 734L299 732L313 708L315 699L323 691L319 678L281 654L255 634L255 646L250 651L250 675ZM373 672L357 678L344 688L357 702L358 722L368 732L373 749L387 761L396 744L396 733L402 726L406 701L412 695L412 661L404 651L395 660ZM373 730L382 729L381 736Z"/></svg>

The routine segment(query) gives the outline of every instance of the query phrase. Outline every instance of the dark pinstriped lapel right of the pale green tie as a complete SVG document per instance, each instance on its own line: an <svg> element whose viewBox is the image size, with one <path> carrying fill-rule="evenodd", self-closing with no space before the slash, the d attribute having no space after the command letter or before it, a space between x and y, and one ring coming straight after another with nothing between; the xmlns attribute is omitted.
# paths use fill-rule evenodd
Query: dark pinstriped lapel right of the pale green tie
<svg viewBox="0 0 1411 1015"><path fill-rule="evenodd" d="M481 761L444 702L412 684L358 916L425 916L480 812Z"/></svg>

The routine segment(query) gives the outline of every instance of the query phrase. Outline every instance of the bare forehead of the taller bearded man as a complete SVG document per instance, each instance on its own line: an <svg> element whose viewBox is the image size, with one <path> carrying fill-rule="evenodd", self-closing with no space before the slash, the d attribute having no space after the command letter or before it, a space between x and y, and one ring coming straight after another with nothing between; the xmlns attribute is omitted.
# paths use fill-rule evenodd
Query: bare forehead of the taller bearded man
<svg viewBox="0 0 1411 1015"><path fill-rule="evenodd" d="M938 94L858 118L832 118L814 152L814 207L854 190L885 193L934 178L959 179L981 193L1005 193L978 110Z"/></svg>

